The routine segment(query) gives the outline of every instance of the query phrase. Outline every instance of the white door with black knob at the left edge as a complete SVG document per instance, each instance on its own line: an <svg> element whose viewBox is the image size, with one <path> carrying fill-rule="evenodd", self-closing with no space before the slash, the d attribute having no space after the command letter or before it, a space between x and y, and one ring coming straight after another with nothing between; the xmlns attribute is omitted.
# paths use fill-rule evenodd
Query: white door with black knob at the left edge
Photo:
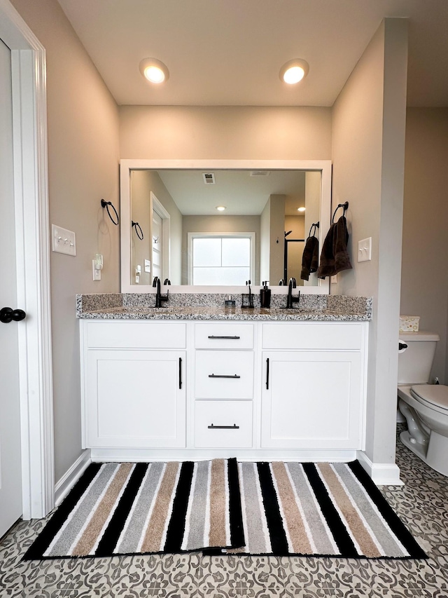
<svg viewBox="0 0 448 598"><path fill-rule="evenodd" d="M15 310L18 306L10 72L10 50L0 40L0 308ZM0 322L0 537L22 515L18 326L20 322L14 320Z"/></svg>

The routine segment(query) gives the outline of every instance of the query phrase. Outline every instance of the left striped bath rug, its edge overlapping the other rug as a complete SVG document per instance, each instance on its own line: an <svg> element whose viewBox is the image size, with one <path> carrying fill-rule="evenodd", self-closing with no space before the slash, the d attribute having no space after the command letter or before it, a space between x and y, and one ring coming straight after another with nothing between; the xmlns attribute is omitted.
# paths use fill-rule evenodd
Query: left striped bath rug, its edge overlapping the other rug
<svg viewBox="0 0 448 598"><path fill-rule="evenodd" d="M94 463L24 559L186 552L243 544L235 458Z"/></svg>

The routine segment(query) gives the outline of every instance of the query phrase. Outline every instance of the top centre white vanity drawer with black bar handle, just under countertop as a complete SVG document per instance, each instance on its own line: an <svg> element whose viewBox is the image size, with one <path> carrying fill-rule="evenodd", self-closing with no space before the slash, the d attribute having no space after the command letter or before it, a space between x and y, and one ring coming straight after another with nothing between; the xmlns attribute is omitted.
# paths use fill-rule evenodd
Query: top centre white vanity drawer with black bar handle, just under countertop
<svg viewBox="0 0 448 598"><path fill-rule="evenodd" d="M253 348L253 324L228 322L195 325L197 349L251 349Z"/></svg>

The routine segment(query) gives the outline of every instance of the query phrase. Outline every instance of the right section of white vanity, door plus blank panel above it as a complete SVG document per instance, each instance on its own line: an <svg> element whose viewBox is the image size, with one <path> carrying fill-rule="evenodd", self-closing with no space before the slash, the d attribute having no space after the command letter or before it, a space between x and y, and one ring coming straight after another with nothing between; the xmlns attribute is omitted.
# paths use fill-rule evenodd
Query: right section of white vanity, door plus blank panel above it
<svg viewBox="0 0 448 598"><path fill-rule="evenodd" d="M365 341L362 322L262 325L261 447L363 447Z"/></svg>

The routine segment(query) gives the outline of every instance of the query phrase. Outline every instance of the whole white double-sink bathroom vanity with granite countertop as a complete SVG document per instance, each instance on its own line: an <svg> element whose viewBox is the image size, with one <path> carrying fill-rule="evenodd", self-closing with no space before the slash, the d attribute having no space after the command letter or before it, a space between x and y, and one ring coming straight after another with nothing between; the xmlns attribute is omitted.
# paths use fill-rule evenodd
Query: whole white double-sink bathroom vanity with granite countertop
<svg viewBox="0 0 448 598"><path fill-rule="evenodd" d="M92 309L97 296L78 296L94 461L342 461L363 449L369 299L228 310L102 297Z"/></svg>

